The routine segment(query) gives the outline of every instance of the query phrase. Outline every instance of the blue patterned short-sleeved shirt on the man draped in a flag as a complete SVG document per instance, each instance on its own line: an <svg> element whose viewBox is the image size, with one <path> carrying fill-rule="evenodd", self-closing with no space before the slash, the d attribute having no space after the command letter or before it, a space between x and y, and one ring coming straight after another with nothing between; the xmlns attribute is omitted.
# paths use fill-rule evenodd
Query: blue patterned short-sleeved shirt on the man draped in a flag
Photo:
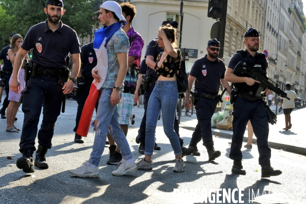
<svg viewBox="0 0 306 204"><path fill-rule="evenodd" d="M119 71L119 63L117 58L117 53L129 52L129 38L127 38L125 32L120 28L116 31L111 39L106 44L107 57L108 57L108 70L105 82L102 88L113 88L117 81L117 75ZM123 83L121 89L123 88Z"/></svg>

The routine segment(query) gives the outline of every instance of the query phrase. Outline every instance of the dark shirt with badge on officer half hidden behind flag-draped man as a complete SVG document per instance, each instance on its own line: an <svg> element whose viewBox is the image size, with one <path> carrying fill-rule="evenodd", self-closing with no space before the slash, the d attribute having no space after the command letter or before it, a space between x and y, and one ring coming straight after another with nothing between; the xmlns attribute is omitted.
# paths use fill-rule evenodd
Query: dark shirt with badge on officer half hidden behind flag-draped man
<svg viewBox="0 0 306 204"><path fill-rule="evenodd" d="M82 75L90 79L93 79L91 70L97 65L97 57L92 44L93 42L90 42L81 47Z"/></svg>

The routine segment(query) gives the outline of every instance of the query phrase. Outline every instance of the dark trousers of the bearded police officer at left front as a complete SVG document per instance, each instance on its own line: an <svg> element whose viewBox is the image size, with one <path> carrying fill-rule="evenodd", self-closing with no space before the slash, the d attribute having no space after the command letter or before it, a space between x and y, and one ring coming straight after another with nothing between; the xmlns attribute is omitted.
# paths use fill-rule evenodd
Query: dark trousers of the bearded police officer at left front
<svg viewBox="0 0 306 204"><path fill-rule="evenodd" d="M64 82L64 79L62 79ZM28 90L23 92L22 111L24 120L20 138L20 149L36 149L35 138L38 130L39 116L43 105L43 118L38 131L38 143L51 148L51 140L57 117L61 112L63 85L58 84L58 77L38 75L31 77Z"/></svg>

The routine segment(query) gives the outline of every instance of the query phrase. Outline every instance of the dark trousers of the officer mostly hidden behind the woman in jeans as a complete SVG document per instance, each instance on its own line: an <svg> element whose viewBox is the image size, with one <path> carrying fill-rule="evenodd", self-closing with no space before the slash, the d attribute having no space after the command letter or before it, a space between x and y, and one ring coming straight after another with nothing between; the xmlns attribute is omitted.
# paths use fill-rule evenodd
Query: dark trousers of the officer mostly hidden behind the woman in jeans
<svg viewBox="0 0 306 204"><path fill-rule="evenodd" d="M152 83L150 85L150 87L148 88L148 90L146 90L143 94L143 97L144 97L144 101L143 101L143 105L144 105L144 114L143 114L143 118L141 120L141 123L140 123L140 127L139 127L139 141L142 143L142 144L145 144L145 123L146 123L146 109L147 109L147 106L148 106L148 102L149 102L149 98L150 98L150 95L153 91L155 87L155 83ZM180 137L180 134L179 134L179 121L176 119L176 116L175 116L175 119L174 119L174 131L176 133L176 135L179 137L179 140L180 140L180 144L181 146L183 146L184 142L183 142L183 138Z"/></svg>

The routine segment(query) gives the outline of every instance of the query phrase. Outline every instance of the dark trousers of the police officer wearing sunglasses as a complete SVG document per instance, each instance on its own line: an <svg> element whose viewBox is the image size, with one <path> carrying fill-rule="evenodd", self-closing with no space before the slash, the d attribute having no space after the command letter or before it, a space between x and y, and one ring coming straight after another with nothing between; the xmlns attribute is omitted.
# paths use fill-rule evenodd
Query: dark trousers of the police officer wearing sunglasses
<svg viewBox="0 0 306 204"><path fill-rule="evenodd" d="M198 124L195 130L197 134L192 134L192 139L200 141L200 136L202 136L203 145L206 147L214 146L211 118L216 110L217 104L218 101L216 99L199 97L195 106ZM198 134L199 129L201 135Z"/></svg>

